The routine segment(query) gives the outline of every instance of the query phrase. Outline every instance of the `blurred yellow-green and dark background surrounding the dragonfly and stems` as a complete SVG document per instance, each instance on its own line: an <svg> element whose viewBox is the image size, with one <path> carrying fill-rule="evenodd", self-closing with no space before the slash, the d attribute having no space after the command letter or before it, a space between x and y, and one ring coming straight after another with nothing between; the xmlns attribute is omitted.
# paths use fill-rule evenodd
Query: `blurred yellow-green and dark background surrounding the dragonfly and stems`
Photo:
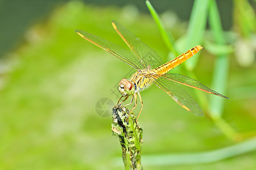
<svg viewBox="0 0 256 170"><path fill-rule="evenodd" d="M193 1L151 3L166 29L177 42L181 41L188 32ZM144 107L139 117L144 169L256 167L255 145L250 149L235 147L244 154L232 155L229 151L228 159L213 161L222 157L217 155L204 164L197 163L200 158L196 158L193 163L152 165L146 158L184 154L193 160L193 155L187 153L255 141L255 1L217 3L228 47L214 45L207 29L201 44L205 49L193 71L196 79L211 87L214 54L224 48L222 53L229 57L224 95L230 97L224 100L221 113L225 123L220 126L214 121L208 105L202 106L205 116L198 117L158 87L150 87L141 93ZM111 131L112 117L99 116L96 103L103 98L116 103L117 83L133 72L130 66L75 33L75 29L82 29L126 47L114 31L112 20L137 35L163 59L170 58L144 1L0 1L1 169L123 169L121 146ZM210 94L205 97L208 101Z"/></svg>

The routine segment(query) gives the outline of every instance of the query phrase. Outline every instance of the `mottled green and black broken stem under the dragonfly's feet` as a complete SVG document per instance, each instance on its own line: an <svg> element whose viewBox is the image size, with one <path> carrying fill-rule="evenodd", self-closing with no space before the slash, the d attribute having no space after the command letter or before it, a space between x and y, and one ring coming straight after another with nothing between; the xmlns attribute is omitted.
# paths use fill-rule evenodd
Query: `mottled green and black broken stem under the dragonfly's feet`
<svg viewBox="0 0 256 170"><path fill-rule="evenodd" d="M137 117L125 107L114 107L112 118L113 135L119 138L125 169L142 169L142 129L136 121Z"/></svg>

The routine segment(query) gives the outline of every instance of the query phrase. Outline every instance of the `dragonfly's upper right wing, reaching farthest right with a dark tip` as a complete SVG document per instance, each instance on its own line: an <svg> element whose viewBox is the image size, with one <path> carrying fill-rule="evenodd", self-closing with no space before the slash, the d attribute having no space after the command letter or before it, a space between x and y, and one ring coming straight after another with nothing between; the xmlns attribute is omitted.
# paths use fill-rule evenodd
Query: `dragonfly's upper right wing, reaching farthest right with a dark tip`
<svg viewBox="0 0 256 170"><path fill-rule="evenodd" d="M189 78L188 76L181 75L181 74L164 74L162 76L163 76L163 78L172 80L173 82L180 83L185 86L193 87L198 90L208 92L209 94L214 94L214 95L225 97L226 99L229 99L229 97L219 94L218 92L208 88L207 86L205 86L204 84L200 83L199 81L197 81L195 79Z"/></svg>

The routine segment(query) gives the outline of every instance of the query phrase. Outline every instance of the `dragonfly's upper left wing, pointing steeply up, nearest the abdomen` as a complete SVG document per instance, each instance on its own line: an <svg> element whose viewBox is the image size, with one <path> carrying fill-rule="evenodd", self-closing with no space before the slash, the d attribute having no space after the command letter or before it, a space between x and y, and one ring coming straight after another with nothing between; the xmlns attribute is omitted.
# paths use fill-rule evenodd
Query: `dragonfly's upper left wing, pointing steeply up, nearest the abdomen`
<svg viewBox="0 0 256 170"><path fill-rule="evenodd" d="M119 36L121 36L123 41L126 42L131 51L138 58L138 61L141 62L141 69L147 69L148 66L150 66L151 69L155 69L156 67L162 65L163 61L158 54L139 40L138 37L133 35L133 33L117 22L113 21L112 25L115 31L117 31Z"/></svg>

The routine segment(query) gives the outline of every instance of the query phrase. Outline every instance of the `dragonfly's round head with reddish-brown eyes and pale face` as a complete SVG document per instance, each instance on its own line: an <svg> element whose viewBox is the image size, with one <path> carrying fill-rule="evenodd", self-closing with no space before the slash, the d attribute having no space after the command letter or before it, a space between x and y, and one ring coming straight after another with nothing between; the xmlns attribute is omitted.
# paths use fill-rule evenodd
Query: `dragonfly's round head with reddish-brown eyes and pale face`
<svg viewBox="0 0 256 170"><path fill-rule="evenodd" d="M118 90L123 96L133 95L135 92L135 87L133 85L133 82L131 82L130 80L122 79L119 82Z"/></svg>

